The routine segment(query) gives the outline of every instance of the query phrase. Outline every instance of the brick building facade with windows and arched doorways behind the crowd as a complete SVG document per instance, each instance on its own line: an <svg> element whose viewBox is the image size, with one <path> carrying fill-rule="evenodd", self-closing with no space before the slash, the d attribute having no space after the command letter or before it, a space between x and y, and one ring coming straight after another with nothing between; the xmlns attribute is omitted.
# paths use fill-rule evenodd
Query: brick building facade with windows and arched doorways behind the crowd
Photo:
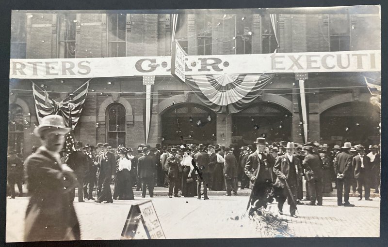
<svg viewBox="0 0 388 247"><path fill-rule="evenodd" d="M178 15L175 37L188 55L204 56L273 53L276 48L278 53L381 49L379 14L275 17L278 46L270 16L253 11ZM169 14L14 11L11 58L171 56L171 35ZM49 95L58 100L85 81L33 80L46 86ZM369 102L363 74L309 73L306 85L308 139L329 145L345 140L379 143L380 109ZM10 107L22 120L10 118L9 145L22 149L24 156L33 145L39 145L32 135L38 123L31 90L29 80L10 81ZM144 91L140 76L93 78L75 128L77 139L84 144L110 142L116 146L124 136L126 146L145 143ZM175 77L156 76L148 144L234 142L241 146L262 134L270 141L302 143L298 92L294 74L279 73L259 99L240 113L225 115L208 109ZM114 115L112 107L121 107L124 113ZM117 126L123 124L121 132L109 129L111 118ZM197 127L198 119L207 125Z"/></svg>

